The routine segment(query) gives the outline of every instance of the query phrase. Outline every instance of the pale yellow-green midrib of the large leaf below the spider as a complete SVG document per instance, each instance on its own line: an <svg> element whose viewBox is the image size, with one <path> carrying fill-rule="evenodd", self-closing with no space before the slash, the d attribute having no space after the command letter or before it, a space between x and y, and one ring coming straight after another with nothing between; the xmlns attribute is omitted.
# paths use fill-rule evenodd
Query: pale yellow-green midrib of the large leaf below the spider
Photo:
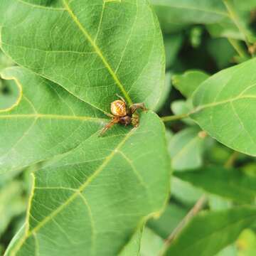
<svg viewBox="0 0 256 256"><path fill-rule="evenodd" d="M26 240L33 234L35 234L38 230L40 230L44 225L46 225L46 223L48 223L48 221L50 221L51 219L53 219L53 217L55 215L58 215L58 213L61 212L61 210L63 210L63 208L65 208L65 206L68 206L71 202L73 202L73 200L75 198L77 198L78 196L80 196L80 194L85 191L85 188L87 188L87 186L101 173L102 170L104 170L105 166L107 166L107 164L112 160L112 158L114 157L115 154L117 154L117 152L119 151L119 149L124 145L124 143L127 141L127 139L129 139L129 137L132 136L132 134L134 133L135 128L132 129L129 133L127 133L127 135L124 137L124 139L122 139L121 142L119 142L119 144L116 146L115 149L112 150L111 154L109 154L105 160L102 162L102 164L97 168L97 170L89 177L87 178L87 180L85 181L85 183L82 183L82 185L77 189L77 191L75 193L73 193L72 196L70 196L65 203L63 203L61 206L59 206L57 209L55 209L52 213L50 213L50 215L47 215L42 221L41 223L39 223L38 225L36 225L35 228L33 228L32 230L27 230L26 234L23 236L23 238L21 238L21 240L19 240L19 242L16 244L16 246L14 247L14 250L12 251L11 255L16 255L16 252L18 252L18 250L22 247L22 245L26 242ZM33 193L34 193L34 185L33 184L33 189L32 189L32 193L31 193L31 199L30 201L32 201L33 198ZM28 210L28 213L30 211ZM26 219L26 225L28 225L28 216Z"/></svg>

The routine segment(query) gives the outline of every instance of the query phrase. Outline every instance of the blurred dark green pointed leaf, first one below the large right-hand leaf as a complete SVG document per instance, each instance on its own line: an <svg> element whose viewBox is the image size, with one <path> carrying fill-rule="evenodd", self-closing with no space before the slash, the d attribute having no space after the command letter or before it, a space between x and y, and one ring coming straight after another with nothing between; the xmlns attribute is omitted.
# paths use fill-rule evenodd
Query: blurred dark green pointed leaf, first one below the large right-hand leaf
<svg viewBox="0 0 256 256"><path fill-rule="evenodd" d="M223 167L205 167L197 171L177 172L175 176L223 198L240 203L255 201L256 177L247 176L242 171L228 170Z"/></svg>

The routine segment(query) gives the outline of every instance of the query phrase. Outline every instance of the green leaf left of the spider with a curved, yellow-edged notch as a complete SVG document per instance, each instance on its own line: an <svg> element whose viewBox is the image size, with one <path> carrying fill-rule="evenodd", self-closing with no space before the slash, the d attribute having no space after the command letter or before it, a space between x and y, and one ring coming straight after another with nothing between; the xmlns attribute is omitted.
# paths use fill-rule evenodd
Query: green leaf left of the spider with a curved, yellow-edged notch
<svg viewBox="0 0 256 256"><path fill-rule="evenodd" d="M9 110L0 110L0 171L21 169L74 149L101 129L102 112L62 87L24 68L4 70L21 92Z"/></svg>

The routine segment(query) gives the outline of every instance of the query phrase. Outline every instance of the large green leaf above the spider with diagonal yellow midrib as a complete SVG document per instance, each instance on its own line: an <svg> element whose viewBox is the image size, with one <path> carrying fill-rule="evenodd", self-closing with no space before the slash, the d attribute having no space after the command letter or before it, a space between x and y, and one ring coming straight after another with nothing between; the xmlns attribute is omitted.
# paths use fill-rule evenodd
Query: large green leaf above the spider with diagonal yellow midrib
<svg viewBox="0 0 256 256"><path fill-rule="evenodd" d="M152 109L164 87L164 50L151 7L146 0L91 3L63 0L57 9L2 0L1 48L103 112L117 93Z"/></svg>

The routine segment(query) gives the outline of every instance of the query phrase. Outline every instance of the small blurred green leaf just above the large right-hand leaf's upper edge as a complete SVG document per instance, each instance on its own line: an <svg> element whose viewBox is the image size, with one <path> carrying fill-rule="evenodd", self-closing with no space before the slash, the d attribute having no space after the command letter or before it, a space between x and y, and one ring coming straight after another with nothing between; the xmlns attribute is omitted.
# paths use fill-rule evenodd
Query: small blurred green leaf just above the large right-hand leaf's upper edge
<svg viewBox="0 0 256 256"><path fill-rule="evenodd" d="M174 75L172 82L174 87L181 92L184 97L191 97L193 92L201 83L209 77L201 70L188 70L182 75Z"/></svg>

